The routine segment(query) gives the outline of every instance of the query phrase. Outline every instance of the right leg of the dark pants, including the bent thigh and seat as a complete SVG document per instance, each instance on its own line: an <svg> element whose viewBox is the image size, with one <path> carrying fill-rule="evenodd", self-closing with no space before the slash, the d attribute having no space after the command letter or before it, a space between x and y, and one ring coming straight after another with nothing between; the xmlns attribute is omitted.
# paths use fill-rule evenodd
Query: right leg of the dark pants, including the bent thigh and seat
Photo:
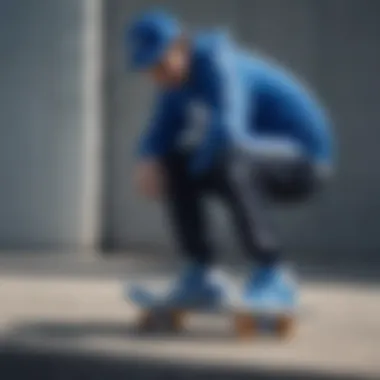
<svg viewBox="0 0 380 380"><path fill-rule="evenodd" d="M309 199L321 181L312 162L288 140L274 150L235 151L213 171L215 190L231 210L248 257L259 264L280 259L281 245L266 210L267 202ZM273 146L273 145L272 145Z"/></svg>

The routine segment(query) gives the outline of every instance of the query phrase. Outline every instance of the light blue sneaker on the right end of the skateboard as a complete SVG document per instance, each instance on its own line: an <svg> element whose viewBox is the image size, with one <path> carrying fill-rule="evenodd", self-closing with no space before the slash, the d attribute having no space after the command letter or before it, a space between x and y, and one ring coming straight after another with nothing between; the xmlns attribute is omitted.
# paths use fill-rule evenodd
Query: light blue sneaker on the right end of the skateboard
<svg viewBox="0 0 380 380"><path fill-rule="evenodd" d="M293 311L297 303L296 282L278 266L261 267L248 278L243 302L254 310Z"/></svg>

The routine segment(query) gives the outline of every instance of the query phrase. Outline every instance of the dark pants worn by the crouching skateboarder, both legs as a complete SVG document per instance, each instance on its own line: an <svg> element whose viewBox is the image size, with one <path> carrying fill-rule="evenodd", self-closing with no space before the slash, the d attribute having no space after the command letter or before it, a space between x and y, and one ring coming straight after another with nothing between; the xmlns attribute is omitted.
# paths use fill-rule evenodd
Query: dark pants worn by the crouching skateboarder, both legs
<svg viewBox="0 0 380 380"><path fill-rule="evenodd" d="M167 209L179 249L201 264L213 261L206 225L205 196L217 196L229 208L246 254L260 264L279 259L280 246L265 203L307 199L317 176L304 159L258 162L250 157L224 156L202 176L189 172L191 153L173 153L164 160Z"/></svg>

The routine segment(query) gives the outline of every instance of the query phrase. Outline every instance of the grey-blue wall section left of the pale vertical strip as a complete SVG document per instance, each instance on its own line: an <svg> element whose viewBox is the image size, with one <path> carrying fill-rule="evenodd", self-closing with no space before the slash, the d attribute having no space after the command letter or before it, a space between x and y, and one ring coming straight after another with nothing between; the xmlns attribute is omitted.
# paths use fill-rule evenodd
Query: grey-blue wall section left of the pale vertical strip
<svg viewBox="0 0 380 380"><path fill-rule="evenodd" d="M1 249L84 244L83 4L1 2Z"/></svg>

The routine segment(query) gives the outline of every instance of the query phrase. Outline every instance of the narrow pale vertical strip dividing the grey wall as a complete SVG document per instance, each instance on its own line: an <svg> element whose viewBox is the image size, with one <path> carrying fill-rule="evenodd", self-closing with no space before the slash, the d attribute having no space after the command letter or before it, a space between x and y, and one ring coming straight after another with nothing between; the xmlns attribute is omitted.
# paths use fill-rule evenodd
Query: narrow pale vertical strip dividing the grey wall
<svg viewBox="0 0 380 380"><path fill-rule="evenodd" d="M101 230L103 1L83 0L83 191L81 239L97 248Z"/></svg>

